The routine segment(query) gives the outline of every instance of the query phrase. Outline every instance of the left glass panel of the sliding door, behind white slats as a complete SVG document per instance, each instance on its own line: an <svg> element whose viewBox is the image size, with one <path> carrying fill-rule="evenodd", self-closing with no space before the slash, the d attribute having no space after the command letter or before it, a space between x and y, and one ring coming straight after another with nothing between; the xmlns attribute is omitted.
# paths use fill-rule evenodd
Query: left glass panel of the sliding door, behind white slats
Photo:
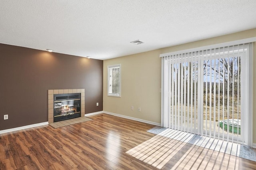
<svg viewBox="0 0 256 170"><path fill-rule="evenodd" d="M171 128L198 130L198 61L170 64Z"/></svg>

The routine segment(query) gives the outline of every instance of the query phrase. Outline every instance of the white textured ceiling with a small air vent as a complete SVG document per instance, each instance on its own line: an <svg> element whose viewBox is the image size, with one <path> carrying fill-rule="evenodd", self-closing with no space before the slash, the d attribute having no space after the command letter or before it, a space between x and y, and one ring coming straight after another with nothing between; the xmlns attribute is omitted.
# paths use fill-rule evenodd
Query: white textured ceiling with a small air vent
<svg viewBox="0 0 256 170"><path fill-rule="evenodd" d="M0 43L102 60L252 28L256 0L0 0Z"/></svg>

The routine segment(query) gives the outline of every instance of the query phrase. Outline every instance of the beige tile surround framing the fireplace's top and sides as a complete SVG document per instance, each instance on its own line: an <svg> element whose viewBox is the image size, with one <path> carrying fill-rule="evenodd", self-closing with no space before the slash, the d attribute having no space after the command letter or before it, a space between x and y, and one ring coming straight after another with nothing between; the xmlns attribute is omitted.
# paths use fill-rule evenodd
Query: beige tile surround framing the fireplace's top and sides
<svg viewBox="0 0 256 170"><path fill-rule="evenodd" d="M53 123L53 95L81 93L81 117L84 117L84 89L53 89L48 90L48 123Z"/></svg>

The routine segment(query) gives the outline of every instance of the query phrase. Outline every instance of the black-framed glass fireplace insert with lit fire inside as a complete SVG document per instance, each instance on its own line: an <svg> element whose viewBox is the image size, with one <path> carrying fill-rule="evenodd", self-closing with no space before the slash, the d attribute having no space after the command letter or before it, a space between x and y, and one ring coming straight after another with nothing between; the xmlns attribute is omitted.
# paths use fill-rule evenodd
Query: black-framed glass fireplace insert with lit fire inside
<svg viewBox="0 0 256 170"><path fill-rule="evenodd" d="M55 94L53 122L81 117L81 93Z"/></svg>

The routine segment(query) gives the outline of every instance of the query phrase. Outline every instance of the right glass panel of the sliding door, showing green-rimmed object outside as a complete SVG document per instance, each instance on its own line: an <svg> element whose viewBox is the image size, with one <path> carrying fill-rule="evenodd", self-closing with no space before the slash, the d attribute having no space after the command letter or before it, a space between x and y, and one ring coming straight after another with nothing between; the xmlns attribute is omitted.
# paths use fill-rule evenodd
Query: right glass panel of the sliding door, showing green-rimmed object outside
<svg viewBox="0 0 256 170"><path fill-rule="evenodd" d="M242 142L241 73L243 50L210 51L203 60L203 130L206 136ZM246 113L244 113L246 114Z"/></svg>

